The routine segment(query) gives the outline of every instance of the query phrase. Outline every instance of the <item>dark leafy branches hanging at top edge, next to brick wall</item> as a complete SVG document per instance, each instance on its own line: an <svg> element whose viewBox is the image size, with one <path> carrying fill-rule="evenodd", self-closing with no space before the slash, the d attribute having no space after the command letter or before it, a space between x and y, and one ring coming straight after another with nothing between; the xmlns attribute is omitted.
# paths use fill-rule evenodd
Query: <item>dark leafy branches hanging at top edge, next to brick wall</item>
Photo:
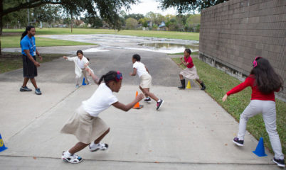
<svg viewBox="0 0 286 170"><path fill-rule="evenodd" d="M208 8L216 4L223 3L228 0L157 0L160 2L161 9L176 8L179 13L201 11L203 8Z"/></svg>

